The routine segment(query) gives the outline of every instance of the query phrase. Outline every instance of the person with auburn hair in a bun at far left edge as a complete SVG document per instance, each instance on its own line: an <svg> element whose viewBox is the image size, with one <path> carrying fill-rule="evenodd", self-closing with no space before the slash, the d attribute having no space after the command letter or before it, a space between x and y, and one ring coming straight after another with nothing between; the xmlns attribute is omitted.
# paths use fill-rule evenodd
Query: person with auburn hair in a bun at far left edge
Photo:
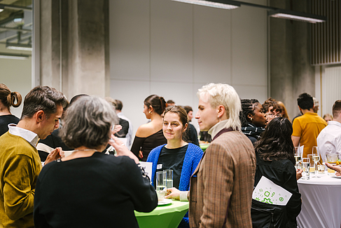
<svg viewBox="0 0 341 228"><path fill-rule="evenodd" d="M10 107L19 107L21 104L21 95L0 83L0 136L8 131L8 124L19 122L19 118L11 114Z"/></svg>

